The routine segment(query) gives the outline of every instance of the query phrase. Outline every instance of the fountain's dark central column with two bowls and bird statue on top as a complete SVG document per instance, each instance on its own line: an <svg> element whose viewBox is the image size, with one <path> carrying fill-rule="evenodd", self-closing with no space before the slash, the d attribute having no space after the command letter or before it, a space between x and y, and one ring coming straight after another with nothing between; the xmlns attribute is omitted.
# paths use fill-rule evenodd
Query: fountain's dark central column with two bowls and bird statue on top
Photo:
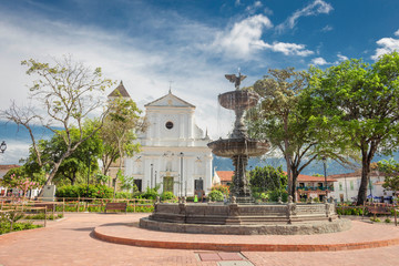
<svg viewBox="0 0 399 266"><path fill-rule="evenodd" d="M239 90L241 82L246 78L238 73L226 74L227 80L235 83L235 91L229 91L218 95L219 104L229 110L234 110L236 120L233 133L228 139L219 139L208 143L213 154L222 157L231 157L234 165L234 188L232 195L236 197L238 204L250 204L253 198L246 176L248 157L260 156L268 151L266 141L258 141L248 137L247 127L244 124L245 111L255 106L259 95L254 91Z"/></svg>

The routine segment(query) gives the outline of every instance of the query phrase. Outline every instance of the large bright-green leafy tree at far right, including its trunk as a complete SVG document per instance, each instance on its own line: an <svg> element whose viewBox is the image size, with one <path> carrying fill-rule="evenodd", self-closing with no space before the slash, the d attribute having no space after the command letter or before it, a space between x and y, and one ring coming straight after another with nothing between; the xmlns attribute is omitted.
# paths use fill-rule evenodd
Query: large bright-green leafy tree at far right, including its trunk
<svg viewBox="0 0 399 266"><path fill-rule="evenodd" d="M310 106L320 145L360 154L361 205L375 154L390 154L399 144L399 54L385 54L372 64L354 59L325 71L311 68L304 103Z"/></svg>

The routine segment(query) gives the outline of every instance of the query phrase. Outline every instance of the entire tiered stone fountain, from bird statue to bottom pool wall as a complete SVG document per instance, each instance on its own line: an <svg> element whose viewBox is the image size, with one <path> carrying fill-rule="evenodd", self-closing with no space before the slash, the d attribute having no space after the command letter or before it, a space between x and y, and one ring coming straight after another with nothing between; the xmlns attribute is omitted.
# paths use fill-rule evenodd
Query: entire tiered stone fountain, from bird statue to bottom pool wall
<svg viewBox="0 0 399 266"><path fill-rule="evenodd" d="M226 75L235 83L235 91L218 95L219 104L234 110L236 120L228 139L208 143L215 155L231 157L235 167L234 190L231 201L223 203L187 203L180 197L178 203L154 204L154 212L140 219L140 227L155 231L201 234L232 235L297 235L334 233L350 228L350 221L340 219L335 204L297 204L293 197L288 203L255 204L250 195L246 167L248 157L267 152L265 141L248 137L244 124L245 111L255 106L259 95L253 91L239 90L246 78L241 73Z"/></svg>

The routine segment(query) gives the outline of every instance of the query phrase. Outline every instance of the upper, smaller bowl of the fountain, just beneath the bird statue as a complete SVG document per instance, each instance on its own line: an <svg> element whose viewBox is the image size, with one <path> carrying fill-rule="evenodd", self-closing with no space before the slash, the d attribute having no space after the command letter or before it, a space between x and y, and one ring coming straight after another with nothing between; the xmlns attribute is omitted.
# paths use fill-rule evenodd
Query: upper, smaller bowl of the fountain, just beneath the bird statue
<svg viewBox="0 0 399 266"><path fill-rule="evenodd" d="M253 108L258 100L259 95L248 90L229 91L218 95L219 104L229 110Z"/></svg>

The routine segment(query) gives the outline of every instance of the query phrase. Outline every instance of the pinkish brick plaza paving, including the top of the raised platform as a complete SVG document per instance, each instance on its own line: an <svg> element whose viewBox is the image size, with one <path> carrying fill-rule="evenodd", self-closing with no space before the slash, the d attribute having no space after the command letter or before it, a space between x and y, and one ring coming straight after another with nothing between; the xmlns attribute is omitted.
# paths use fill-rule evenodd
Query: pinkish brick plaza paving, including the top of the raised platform
<svg viewBox="0 0 399 266"><path fill-rule="evenodd" d="M268 243L330 245L399 237L399 227L354 222L346 233L317 236L217 236L156 233L135 226L147 214L66 214L48 227L0 236L0 265L398 265L399 245L339 252L222 252L149 248L93 238L103 233L163 242ZM129 229L126 229L129 227ZM121 233L125 229L125 233ZM136 235L129 235L136 234ZM194 239L195 238L195 239ZM167 246L167 245L164 245Z"/></svg>

